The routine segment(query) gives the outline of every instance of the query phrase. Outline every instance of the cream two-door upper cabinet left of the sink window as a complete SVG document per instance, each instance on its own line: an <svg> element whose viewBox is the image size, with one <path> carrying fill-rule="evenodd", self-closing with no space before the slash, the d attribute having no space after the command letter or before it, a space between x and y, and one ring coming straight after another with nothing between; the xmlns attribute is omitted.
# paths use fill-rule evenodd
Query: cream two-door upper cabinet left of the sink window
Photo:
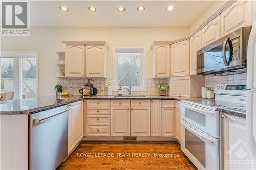
<svg viewBox="0 0 256 170"><path fill-rule="evenodd" d="M106 42L65 41L65 77L106 77Z"/></svg>

